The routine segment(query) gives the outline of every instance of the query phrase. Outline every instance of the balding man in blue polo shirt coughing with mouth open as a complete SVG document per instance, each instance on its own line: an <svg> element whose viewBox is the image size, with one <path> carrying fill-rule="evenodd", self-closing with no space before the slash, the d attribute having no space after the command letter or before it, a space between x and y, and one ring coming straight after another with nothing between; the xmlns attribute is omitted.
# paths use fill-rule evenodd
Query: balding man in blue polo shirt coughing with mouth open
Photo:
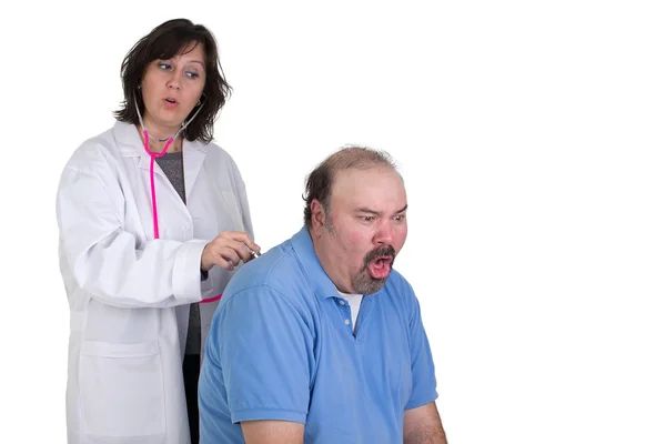
<svg viewBox="0 0 666 444"><path fill-rule="evenodd" d="M199 385L201 443L445 444L390 158L346 148L306 184L305 226L226 287ZM404 441L403 441L404 440Z"/></svg>

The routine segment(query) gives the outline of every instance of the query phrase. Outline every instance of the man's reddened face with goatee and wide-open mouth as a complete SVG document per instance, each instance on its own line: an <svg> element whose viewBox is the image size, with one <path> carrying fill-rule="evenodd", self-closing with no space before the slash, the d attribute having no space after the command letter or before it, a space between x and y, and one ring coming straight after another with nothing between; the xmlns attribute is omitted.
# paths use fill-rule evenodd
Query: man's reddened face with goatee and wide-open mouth
<svg viewBox="0 0 666 444"><path fill-rule="evenodd" d="M392 169L335 173L329 212L321 205L313 212L313 234L337 290L372 294L382 289L407 236L406 209L403 181Z"/></svg>

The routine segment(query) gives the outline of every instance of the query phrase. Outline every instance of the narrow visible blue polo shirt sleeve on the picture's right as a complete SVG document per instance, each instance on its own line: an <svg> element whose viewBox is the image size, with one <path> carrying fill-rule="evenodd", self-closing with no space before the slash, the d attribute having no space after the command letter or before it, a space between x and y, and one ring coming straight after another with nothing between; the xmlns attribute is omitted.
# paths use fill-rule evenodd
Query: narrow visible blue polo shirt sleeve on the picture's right
<svg viewBox="0 0 666 444"><path fill-rule="evenodd" d="M416 296L412 297L410 316L410 352L412 355L412 395L405 410L428 404L437 398L435 365Z"/></svg>

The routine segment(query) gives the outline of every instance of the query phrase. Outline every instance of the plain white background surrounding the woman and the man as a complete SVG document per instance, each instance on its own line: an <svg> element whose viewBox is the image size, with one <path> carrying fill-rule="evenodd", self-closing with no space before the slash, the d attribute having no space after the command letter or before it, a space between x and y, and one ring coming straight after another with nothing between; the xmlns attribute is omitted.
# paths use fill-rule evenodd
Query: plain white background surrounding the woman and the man
<svg viewBox="0 0 666 444"><path fill-rule="evenodd" d="M2 443L64 443L54 196L162 21L220 44L216 142L264 251L345 143L406 180L412 282L452 444L666 443L666 16L654 1L2 7Z"/></svg>

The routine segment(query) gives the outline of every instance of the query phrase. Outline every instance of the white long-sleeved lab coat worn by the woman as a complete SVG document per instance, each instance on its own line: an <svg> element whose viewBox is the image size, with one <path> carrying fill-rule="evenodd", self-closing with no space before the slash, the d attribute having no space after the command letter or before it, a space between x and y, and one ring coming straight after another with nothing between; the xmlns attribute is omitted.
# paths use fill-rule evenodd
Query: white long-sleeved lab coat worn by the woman
<svg viewBox="0 0 666 444"><path fill-rule="evenodd" d="M205 244L226 230L253 238L245 186L231 157L184 142L186 206L154 165L160 239L153 239L150 157L118 122L71 157L57 198L60 268L70 305L70 444L188 444L182 360L190 303L224 290L201 281ZM218 303L201 304L202 344Z"/></svg>

